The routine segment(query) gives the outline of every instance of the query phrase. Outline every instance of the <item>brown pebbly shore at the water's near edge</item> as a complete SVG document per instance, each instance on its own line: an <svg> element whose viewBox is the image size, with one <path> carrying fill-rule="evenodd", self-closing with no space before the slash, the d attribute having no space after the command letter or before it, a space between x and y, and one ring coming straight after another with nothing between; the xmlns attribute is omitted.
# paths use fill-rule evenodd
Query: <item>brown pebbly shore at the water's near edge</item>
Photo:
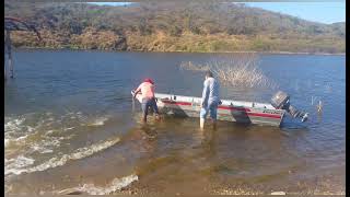
<svg viewBox="0 0 350 197"><path fill-rule="evenodd" d="M115 195L345 195L346 186L336 183L331 178L312 178L308 181L298 182L295 185L284 185L275 189L266 187L265 184L237 184L230 186L212 185L202 190L184 190L182 188L174 189L178 192L166 190L164 188L152 187L152 184L143 184L133 182L127 187L121 188L113 194Z"/></svg>

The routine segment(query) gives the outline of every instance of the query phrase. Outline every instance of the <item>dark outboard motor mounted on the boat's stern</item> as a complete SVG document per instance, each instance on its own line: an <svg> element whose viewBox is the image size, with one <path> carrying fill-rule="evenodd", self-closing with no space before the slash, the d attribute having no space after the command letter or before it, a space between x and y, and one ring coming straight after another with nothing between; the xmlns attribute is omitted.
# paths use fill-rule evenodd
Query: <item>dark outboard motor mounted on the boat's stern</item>
<svg viewBox="0 0 350 197"><path fill-rule="evenodd" d="M305 121L307 119L307 113L296 109L294 106L290 104L289 100L290 96L287 93L278 91L271 97L271 105L278 109L285 109L294 118L302 118L302 121Z"/></svg>

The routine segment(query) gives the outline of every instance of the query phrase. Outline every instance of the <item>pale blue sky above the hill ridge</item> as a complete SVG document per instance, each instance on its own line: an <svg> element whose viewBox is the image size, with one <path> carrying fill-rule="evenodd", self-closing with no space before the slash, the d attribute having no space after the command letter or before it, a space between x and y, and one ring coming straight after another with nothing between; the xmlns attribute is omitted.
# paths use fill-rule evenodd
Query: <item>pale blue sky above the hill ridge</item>
<svg viewBox="0 0 350 197"><path fill-rule="evenodd" d="M130 2L90 2L101 5L125 5ZM243 2L248 7L280 12L300 19L320 23L336 23L346 21L346 1L318 1L318 2Z"/></svg>

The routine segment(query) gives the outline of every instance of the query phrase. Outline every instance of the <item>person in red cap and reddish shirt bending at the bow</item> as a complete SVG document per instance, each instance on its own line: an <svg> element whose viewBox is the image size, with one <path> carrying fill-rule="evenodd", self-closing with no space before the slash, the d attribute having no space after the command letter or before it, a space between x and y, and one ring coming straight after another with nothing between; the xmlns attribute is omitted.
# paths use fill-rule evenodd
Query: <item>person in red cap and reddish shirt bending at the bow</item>
<svg viewBox="0 0 350 197"><path fill-rule="evenodd" d="M144 79L143 82L133 91L133 99L141 93L140 103L142 106L142 121L147 123L148 108L152 107L155 118L159 119L159 111L154 99L154 82L152 79Z"/></svg>

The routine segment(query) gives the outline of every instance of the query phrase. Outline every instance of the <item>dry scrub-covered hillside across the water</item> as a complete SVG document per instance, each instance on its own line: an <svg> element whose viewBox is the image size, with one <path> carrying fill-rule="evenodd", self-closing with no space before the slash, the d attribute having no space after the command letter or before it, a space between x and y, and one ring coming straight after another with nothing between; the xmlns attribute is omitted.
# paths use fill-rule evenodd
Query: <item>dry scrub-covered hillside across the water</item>
<svg viewBox="0 0 350 197"><path fill-rule="evenodd" d="M102 7L72 2L4 2L4 14L32 22L16 47L143 51L345 53L345 23L323 24L214 1Z"/></svg>

